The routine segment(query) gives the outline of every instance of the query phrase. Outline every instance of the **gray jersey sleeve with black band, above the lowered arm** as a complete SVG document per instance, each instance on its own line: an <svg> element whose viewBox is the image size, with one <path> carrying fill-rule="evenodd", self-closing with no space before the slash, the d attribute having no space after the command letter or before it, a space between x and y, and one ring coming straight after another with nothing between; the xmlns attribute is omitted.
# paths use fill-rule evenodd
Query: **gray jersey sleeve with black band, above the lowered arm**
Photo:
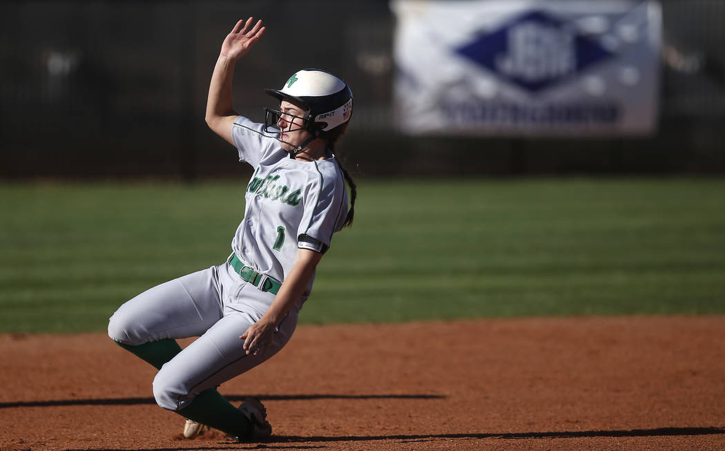
<svg viewBox="0 0 725 451"><path fill-rule="evenodd" d="M347 191L339 175L318 174L318 183L312 185L305 197L305 214L297 238L302 249L324 253L347 215Z"/></svg>

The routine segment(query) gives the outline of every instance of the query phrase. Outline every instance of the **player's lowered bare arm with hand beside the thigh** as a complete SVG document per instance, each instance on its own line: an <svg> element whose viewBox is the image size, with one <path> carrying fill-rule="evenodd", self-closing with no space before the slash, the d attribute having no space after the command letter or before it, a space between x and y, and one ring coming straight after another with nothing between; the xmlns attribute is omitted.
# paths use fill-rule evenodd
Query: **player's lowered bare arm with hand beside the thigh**
<svg viewBox="0 0 725 451"><path fill-rule="evenodd" d="M294 265L284 279L272 305L257 323L249 326L247 331L239 337L244 340L243 347L247 354L257 355L272 342L274 329L281 323L297 299L302 296L312 274L315 273L315 268L322 260L322 256L320 252L310 249L297 250Z"/></svg>

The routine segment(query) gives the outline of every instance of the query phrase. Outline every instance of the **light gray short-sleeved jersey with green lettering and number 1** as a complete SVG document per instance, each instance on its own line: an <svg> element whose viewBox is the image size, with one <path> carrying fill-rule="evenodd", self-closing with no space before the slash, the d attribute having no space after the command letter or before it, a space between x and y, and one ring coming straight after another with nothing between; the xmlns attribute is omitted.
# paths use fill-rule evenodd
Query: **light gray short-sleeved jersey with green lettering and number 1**
<svg viewBox="0 0 725 451"><path fill-rule="evenodd" d="M326 252L347 216L347 189L334 158L293 160L263 128L242 116L232 126L239 160L254 175L231 247L247 265L283 281L299 247Z"/></svg>

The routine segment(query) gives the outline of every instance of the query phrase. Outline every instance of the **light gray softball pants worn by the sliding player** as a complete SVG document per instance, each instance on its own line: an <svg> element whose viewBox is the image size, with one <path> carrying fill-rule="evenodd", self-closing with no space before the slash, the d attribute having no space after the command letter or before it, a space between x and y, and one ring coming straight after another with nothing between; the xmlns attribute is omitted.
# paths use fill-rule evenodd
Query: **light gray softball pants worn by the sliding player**
<svg viewBox="0 0 725 451"><path fill-rule="evenodd" d="M154 378L157 403L179 410L200 392L268 360L289 341L297 326L296 307L263 354L247 355L242 349L239 336L262 318L274 296L223 263L154 286L125 302L110 318L108 334L130 345L199 336Z"/></svg>

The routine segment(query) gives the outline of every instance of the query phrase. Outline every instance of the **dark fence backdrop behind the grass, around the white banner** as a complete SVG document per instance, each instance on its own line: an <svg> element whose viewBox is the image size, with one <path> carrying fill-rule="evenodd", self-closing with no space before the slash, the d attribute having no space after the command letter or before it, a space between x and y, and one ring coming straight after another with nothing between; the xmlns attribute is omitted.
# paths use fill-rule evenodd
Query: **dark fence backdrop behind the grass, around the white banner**
<svg viewBox="0 0 725 451"><path fill-rule="evenodd" d="M263 120L295 70L355 92L341 144L357 176L723 173L725 2L663 4L659 131L647 138L410 138L392 125L387 1L11 1L0 15L0 178L239 175L207 130L220 43L239 17L268 33L236 72L239 111Z"/></svg>

